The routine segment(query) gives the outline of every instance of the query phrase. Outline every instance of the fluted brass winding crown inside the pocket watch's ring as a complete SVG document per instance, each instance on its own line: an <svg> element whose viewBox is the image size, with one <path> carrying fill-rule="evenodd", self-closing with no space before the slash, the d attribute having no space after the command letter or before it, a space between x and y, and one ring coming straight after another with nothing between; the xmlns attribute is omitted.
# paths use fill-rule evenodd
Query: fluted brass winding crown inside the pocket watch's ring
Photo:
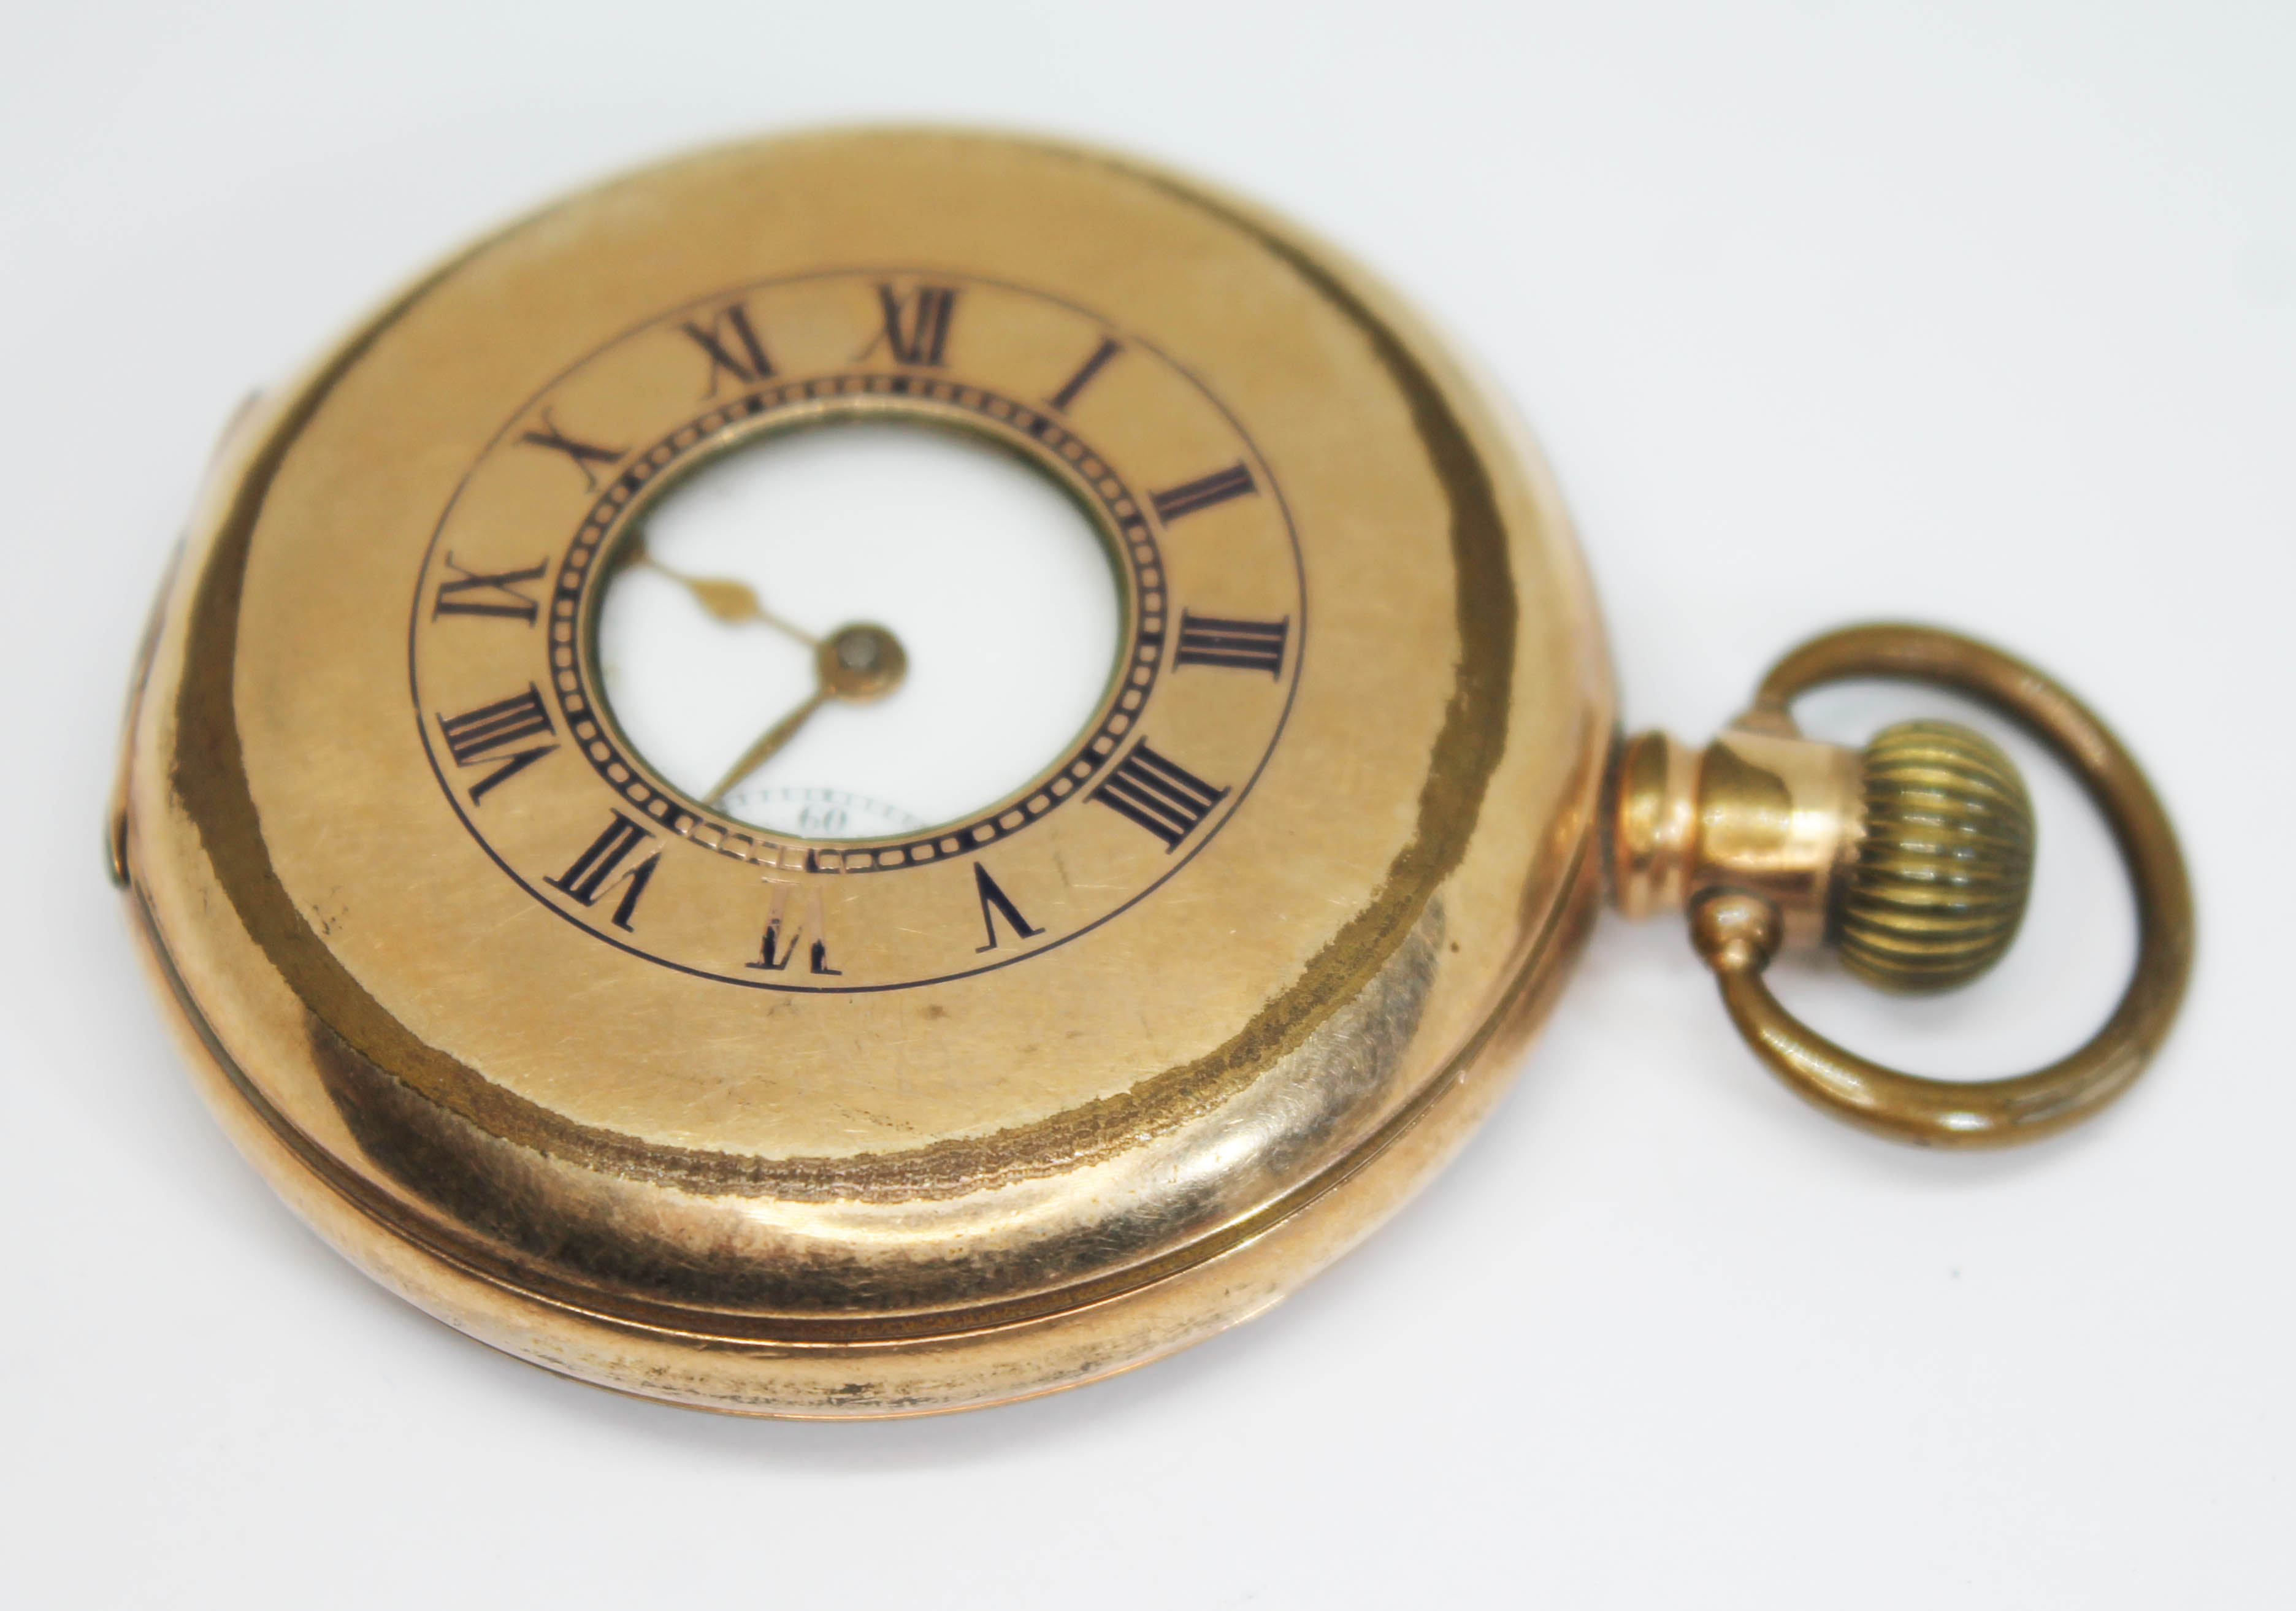
<svg viewBox="0 0 2296 1611"><path fill-rule="evenodd" d="M1835 906L1841 959L1880 989L1968 984L2025 918L2025 780L1998 744L1949 721L1885 727L1862 760L1864 840Z"/></svg>

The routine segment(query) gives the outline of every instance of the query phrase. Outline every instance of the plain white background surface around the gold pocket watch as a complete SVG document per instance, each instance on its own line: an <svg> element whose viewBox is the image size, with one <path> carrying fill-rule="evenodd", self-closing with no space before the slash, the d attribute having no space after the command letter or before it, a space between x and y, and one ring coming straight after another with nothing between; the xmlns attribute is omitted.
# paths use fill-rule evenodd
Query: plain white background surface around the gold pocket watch
<svg viewBox="0 0 2296 1611"><path fill-rule="evenodd" d="M2296 9L347 5L5 14L0 1600L23 1606L2266 1606L2296 1595ZM1839 620L2000 638L2177 812L2202 959L2103 1122L1851 1134L1605 920L1497 1120L1290 1303L889 1425L553 1379L370 1287L200 1111L99 819L241 392L491 220L824 117L1254 193L1545 441L1628 718ZM1855 737L1880 702L1818 716ZM1896 705L1890 705L1896 709ZM1931 1069L2085 1030L2128 916L2055 780L1968 998L1791 998Z"/></svg>

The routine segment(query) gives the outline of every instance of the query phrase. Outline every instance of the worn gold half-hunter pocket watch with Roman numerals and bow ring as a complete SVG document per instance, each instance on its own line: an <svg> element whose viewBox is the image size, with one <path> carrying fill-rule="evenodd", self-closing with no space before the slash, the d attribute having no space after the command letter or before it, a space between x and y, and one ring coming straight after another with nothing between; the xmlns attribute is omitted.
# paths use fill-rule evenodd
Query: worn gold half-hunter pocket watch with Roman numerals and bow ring
<svg viewBox="0 0 2296 1611"><path fill-rule="evenodd" d="M1081 569L930 498L682 526L884 434L1019 466ZM2064 1063L1915 1079L1766 991L1818 941L1954 984L2023 911L1988 741L1795 734L1848 675L1993 702L2110 817L2140 962ZM1277 1301L1490 1111L1605 897L1685 909L1802 1095L1940 1145L2108 1102L2190 959L2158 803L2046 677L1853 629L1701 753L1621 741L1561 505L1407 310L980 133L620 179L255 404L110 833L298 1214L484 1342L748 1414L1045 1393Z"/></svg>

